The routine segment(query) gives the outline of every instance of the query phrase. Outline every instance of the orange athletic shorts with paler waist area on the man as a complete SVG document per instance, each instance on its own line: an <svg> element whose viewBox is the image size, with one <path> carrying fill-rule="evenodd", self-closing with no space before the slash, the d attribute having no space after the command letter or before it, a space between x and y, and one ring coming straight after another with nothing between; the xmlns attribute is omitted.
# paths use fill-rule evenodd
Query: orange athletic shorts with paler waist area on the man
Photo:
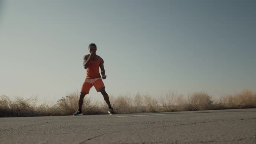
<svg viewBox="0 0 256 144"><path fill-rule="evenodd" d="M99 89L101 87L105 87L101 78L85 79L85 81L82 85L82 88L81 88L81 92L85 92L85 93L89 94L90 89L92 88L92 86L95 87L97 92L99 92Z"/></svg>

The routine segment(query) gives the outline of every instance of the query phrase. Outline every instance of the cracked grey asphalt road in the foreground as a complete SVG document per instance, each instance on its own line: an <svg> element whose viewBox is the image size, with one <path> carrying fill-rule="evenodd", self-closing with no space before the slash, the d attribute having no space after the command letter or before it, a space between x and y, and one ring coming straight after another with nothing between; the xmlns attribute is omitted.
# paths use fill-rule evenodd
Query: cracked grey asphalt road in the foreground
<svg viewBox="0 0 256 144"><path fill-rule="evenodd" d="M256 109L0 118L0 144L256 144Z"/></svg>

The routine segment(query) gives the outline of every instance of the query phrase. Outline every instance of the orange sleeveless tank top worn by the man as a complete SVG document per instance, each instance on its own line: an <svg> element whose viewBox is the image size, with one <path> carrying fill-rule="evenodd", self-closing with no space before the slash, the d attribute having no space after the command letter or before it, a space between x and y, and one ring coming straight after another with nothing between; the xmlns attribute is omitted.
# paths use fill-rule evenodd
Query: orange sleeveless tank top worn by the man
<svg viewBox="0 0 256 144"><path fill-rule="evenodd" d="M86 56L88 59L89 55ZM97 61L90 61L89 66L86 69L86 79L96 79L96 78L101 78L100 73L99 73L99 65L101 62L101 57L98 56Z"/></svg>

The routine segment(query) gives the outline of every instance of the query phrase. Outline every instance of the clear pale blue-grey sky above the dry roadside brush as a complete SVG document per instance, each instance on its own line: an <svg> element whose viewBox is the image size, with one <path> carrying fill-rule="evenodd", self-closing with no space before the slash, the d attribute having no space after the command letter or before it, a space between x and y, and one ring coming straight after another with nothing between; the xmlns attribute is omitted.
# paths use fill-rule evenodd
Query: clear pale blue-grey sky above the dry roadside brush
<svg viewBox="0 0 256 144"><path fill-rule="evenodd" d="M256 90L255 0L0 0L0 95L79 92L98 46L112 96ZM103 99L95 88L89 97Z"/></svg>

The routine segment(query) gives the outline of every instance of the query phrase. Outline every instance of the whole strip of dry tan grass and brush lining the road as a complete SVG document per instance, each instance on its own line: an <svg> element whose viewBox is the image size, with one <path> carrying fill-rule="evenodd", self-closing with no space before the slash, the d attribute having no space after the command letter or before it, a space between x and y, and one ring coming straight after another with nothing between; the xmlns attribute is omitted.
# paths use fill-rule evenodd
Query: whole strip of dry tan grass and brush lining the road
<svg viewBox="0 0 256 144"><path fill-rule="evenodd" d="M0 96L0 117L20 116L49 116L73 115L78 108L79 92L59 99L55 104L45 102L38 104L38 98L10 99L6 95ZM149 94L137 93L133 96L110 95L112 107L119 114L146 113L163 111L197 111L211 109L256 108L256 93L243 91L239 94L229 94L213 101L213 97L205 92L195 92L187 97L174 92L161 95L158 99ZM86 115L107 114L108 106L105 101L92 101L84 98L83 113Z"/></svg>

